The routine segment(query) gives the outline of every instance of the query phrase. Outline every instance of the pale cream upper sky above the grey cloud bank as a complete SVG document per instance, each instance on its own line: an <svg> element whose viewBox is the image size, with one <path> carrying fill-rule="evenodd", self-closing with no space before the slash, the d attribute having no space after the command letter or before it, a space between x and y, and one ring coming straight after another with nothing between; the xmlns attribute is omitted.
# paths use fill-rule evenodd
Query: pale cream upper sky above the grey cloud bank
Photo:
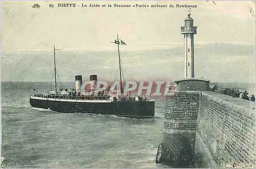
<svg viewBox="0 0 256 169"><path fill-rule="evenodd" d="M160 2L143 2L157 3ZM211 2L179 3L198 6L192 11L194 23L198 26L196 41L254 44L255 30L249 13L253 3L216 2L217 6ZM50 52L53 43L62 51L114 51L116 46L109 42L116 38L117 33L127 43L126 47L122 46L122 51L169 49L182 44L180 26L184 25L186 9L91 8L85 11L82 8L52 9L48 2L41 2L41 8L36 10L31 8L33 5L33 2L18 5L3 2L2 49L5 52Z"/></svg>

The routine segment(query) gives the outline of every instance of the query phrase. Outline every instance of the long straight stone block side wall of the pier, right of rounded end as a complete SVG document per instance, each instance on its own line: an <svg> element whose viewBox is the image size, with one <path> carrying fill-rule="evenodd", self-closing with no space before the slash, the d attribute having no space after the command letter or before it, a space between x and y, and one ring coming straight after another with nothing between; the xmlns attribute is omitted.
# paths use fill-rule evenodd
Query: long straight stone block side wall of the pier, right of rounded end
<svg viewBox="0 0 256 169"><path fill-rule="evenodd" d="M237 162L255 167L255 104L216 92L199 99L195 161L197 167Z"/></svg>

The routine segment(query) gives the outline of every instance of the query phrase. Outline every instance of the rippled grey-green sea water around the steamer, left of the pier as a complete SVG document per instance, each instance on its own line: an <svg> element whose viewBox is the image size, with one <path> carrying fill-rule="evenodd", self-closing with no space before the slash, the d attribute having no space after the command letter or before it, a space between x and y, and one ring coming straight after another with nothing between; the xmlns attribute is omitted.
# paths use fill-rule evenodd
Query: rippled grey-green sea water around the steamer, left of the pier
<svg viewBox="0 0 256 169"><path fill-rule="evenodd" d="M152 119L58 113L33 108L33 88L48 83L2 83L2 156L6 167L163 168L156 154L163 134L163 102Z"/></svg>

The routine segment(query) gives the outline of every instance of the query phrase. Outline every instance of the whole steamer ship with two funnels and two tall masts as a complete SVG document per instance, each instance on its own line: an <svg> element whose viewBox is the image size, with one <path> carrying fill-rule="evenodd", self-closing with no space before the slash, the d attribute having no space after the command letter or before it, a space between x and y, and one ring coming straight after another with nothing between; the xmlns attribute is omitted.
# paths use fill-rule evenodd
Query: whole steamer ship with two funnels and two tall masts
<svg viewBox="0 0 256 169"><path fill-rule="evenodd" d="M131 96L131 93L123 93L121 76L121 59L119 45L125 44L121 39L115 39L118 46L119 73L120 73L120 91L110 91L110 87L95 95L97 75L91 75L90 81L93 85L90 89L81 92L82 76L75 76L76 89L65 89L57 92L56 82L56 53L54 44L54 75L55 90L48 91L46 94L34 94L30 96L30 105L36 108L50 109L62 113L93 113L102 115L116 115L131 118L153 118L155 116L155 100L142 96ZM124 82L124 81L123 81ZM34 89L35 90L35 89Z"/></svg>

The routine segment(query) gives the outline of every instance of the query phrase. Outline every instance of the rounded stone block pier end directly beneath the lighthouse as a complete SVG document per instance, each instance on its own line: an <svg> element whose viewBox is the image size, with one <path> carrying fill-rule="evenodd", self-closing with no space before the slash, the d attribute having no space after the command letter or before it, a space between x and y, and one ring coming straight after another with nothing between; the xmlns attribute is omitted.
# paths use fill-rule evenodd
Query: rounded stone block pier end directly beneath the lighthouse
<svg viewBox="0 0 256 169"><path fill-rule="evenodd" d="M178 91L165 101L161 161L173 167L193 166L199 92Z"/></svg>

